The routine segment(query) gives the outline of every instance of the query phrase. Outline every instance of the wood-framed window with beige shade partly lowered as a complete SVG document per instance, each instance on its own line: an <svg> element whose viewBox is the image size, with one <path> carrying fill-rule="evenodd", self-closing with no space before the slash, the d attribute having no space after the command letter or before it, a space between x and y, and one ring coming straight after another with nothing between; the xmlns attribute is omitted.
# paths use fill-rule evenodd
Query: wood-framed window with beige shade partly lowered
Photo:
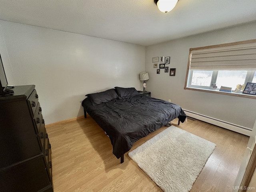
<svg viewBox="0 0 256 192"><path fill-rule="evenodd" d="M185 89L235 90L247 82L256 83L256 40L190 49Z"/></svg>

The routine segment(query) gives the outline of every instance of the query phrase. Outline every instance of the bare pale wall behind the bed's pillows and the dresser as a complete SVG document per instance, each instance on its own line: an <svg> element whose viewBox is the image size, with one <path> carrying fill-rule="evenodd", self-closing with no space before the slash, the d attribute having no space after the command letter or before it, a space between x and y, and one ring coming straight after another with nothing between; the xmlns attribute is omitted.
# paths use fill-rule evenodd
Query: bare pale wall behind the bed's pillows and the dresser
<svg viewBox="0 0 256 192"><path fill-rule="evenodd" d="M145 47L0 20L8 83L35 84L46 124L83 115L85 94L142 89Z"/></svg>

